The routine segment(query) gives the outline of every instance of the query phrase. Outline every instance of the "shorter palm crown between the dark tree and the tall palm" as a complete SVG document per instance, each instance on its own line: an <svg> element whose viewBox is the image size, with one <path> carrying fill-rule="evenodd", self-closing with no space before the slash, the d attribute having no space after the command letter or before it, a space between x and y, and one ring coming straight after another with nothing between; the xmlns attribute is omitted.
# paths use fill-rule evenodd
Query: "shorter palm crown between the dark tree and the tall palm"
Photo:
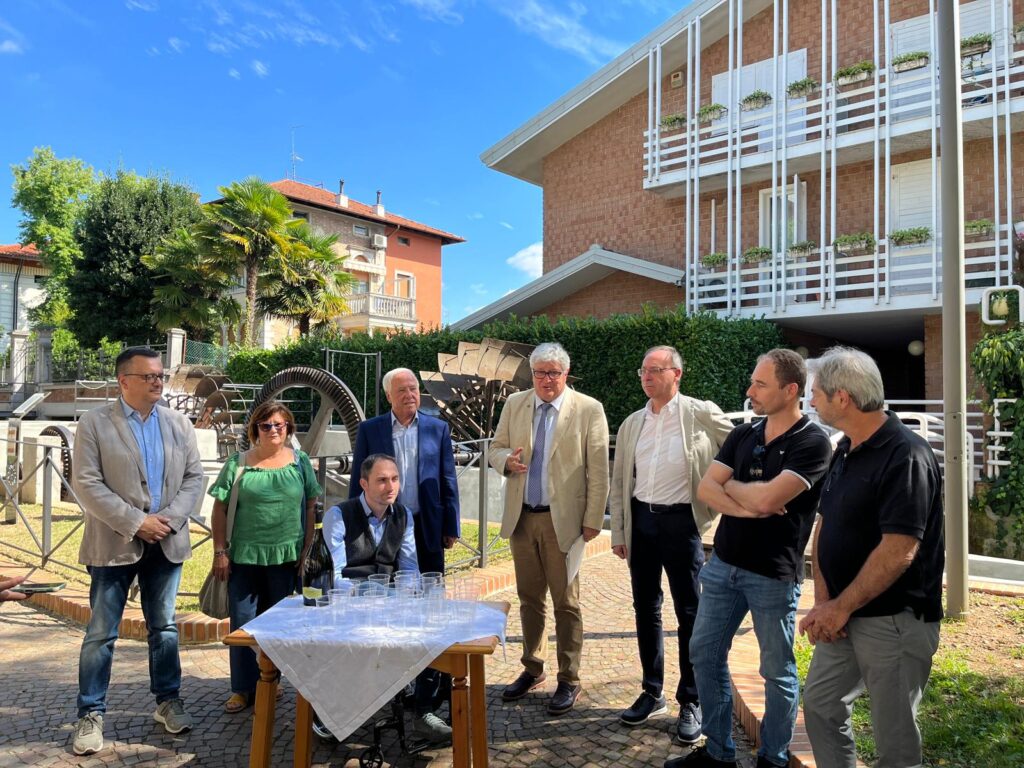
<svg viewBox="0 0 1024 768"><path fill-rule="evenodd" d="M183 328L189 338L207 340L221 325L242 317L229 295L238 264L201 247L196 230L178 227L142 263L153 270L152 318L161 332Z"/></svg>

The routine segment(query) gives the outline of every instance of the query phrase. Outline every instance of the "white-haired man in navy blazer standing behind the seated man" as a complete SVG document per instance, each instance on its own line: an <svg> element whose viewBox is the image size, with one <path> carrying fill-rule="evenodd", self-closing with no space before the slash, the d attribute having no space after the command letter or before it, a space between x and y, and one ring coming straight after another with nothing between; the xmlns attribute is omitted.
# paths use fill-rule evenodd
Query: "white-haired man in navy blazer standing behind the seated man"
<svg viewBox="0 0 1024 768"><path fill-rule="evenodd" d="M391 411L359 425L352 457L349 498L359 495L359 466L371 454L393 456L398 501L413 512L420 572L444 571L444 550L459 540L459 484L449 425L419 413L420 383L407 368L384 374Z"/></svg>

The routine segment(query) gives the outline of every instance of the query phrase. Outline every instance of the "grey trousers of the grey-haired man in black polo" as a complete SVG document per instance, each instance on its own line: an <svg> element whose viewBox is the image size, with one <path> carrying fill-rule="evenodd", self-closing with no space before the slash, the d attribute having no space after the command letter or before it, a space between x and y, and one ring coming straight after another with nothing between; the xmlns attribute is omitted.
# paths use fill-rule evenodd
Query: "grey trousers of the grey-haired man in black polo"
<svg viewBox="0 0 1024 768"><path fill-rule="evenodd" d="M939 646L939 623L904 611L851 618L848 637L814 646L804 689L804 722L818 768L854 768L850 715L866 689L879 751L876 768L921 765L918 705Z"/></svg>

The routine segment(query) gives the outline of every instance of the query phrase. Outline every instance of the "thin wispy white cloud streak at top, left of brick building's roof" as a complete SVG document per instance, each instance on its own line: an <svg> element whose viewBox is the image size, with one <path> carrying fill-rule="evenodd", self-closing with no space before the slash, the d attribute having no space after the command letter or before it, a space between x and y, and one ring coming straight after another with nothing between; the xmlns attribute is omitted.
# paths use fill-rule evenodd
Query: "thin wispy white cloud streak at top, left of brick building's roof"
<svg viewBox="0 0 1024 768"><path fill-rule="evenodd" d="M569 13L563 13L540 0L501 0L495 4L499 13L508 16L527 35L540 38L548 45L572 53L590 65L604 63L622 53L622 43L591 32L581 19L587 8L572 3Z"/></svg>

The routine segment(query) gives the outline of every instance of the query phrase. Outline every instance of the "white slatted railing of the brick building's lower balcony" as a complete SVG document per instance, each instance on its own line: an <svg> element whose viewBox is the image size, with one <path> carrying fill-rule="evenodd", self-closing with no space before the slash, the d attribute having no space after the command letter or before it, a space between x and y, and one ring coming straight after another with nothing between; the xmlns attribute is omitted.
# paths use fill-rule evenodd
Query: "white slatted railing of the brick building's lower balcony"
<svg viewBox="0 0 1024 768"><path fill-rule="evenodd" d="M983 239L982 239L983 238ZM985 288L1012 282L1012 227L974 238L964 249L968 301ZM935 306L942 296L942 254L937 242L896 247L886 240L869 253L838 251L828 246L808 255L748 264L734 255L708 268L687 268L691 311L779 317L839 311Z"/></svg>

